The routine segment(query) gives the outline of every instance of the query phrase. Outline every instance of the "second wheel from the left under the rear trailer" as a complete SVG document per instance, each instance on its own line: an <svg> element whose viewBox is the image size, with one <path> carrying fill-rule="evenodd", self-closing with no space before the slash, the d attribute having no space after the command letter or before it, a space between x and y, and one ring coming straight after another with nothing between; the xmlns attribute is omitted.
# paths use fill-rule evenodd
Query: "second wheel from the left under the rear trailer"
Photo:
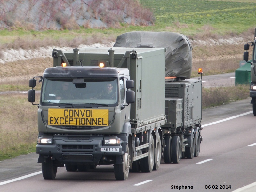
<svg viewBox="0 0 256 192"><path fill-rule="evenodd" d="M181 142L180 137L178 135L175 135L172 138L172 162L173 163L180 163L181 158Z"/></svg>

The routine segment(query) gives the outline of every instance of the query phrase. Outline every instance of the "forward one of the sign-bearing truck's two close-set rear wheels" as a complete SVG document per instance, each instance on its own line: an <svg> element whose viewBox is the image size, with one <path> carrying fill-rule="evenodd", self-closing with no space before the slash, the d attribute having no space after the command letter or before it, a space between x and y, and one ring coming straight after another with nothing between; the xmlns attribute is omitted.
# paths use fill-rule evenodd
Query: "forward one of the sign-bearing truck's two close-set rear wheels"
<svg viewBox="0 0 256 192"><path fill-rule="evenodd" d="M153 135L150 136L148 156L140 159L141 172L152 172L155 161L155 143Z"/></svg>

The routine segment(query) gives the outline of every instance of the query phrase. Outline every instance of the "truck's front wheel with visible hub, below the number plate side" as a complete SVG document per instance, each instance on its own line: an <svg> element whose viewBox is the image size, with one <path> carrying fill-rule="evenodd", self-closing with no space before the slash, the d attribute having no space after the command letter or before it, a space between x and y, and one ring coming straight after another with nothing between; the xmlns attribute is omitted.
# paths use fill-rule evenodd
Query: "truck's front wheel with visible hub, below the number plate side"
<svg viewBox="0 0 256 192"><path fill-rule="evenodd" d="M123 164L114 164L114 173L116 180L124 181L127 180L130 168L130 152L129 146L126 146L126 153L123 155Z"/></svg>

